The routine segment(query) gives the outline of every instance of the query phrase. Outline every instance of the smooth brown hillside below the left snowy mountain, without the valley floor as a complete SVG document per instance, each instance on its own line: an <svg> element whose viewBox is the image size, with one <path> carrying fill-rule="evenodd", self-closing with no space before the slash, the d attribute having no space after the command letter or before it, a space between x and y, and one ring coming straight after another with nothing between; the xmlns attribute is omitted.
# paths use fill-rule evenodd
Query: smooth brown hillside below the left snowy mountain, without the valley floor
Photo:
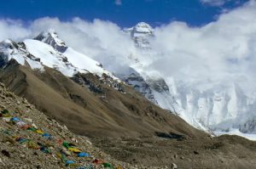
<svg viewBox="0 0 256 169"><path fill-rule="evenodd" d="M205 136L128 86L125 86L125 93L121 93L96 76L80 76L95 86L100 85L103 92L91 92L56 70L32 71L14 60L0 72L0 81L38 110L81 135L137 137L174 132L188 137Z"/></svg>

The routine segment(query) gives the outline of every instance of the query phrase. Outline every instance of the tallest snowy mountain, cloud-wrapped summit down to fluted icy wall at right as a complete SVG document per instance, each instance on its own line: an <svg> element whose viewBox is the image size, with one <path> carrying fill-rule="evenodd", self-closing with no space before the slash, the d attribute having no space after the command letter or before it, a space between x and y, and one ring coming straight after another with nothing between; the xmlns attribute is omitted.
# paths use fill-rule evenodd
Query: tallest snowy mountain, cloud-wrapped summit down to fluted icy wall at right
<svg viewBox="0 0 256 169"><path fill-rule="evenodd" d="M154 104L177 113L194 127L223 133L234 133L232 131L236 130L236 134L247 138L250 138L248 134L255 134L255 93L246 93L236 82L200 82L152 74L152 70L147 69L147 63L160 58L160 54L150 46L154 29L142 22L125 29L125 32L134 41L138 56L133 55L134 61L127 65L136 73L127 72L119 76L120 79Z"/></svg>

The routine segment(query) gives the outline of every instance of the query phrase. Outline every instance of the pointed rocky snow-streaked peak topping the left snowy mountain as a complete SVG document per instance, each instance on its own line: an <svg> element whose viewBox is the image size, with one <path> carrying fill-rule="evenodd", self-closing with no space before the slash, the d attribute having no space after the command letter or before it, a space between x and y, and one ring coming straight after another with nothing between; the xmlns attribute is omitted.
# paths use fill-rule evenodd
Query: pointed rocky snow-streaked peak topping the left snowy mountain
<svg viewBox="0 0 256 169"><path fill-rule="evenodd" d="M49 44L61 53L67 50L66 43L59 38L54 29L42 31L38 37L35 37L34 39Z"/></svg>

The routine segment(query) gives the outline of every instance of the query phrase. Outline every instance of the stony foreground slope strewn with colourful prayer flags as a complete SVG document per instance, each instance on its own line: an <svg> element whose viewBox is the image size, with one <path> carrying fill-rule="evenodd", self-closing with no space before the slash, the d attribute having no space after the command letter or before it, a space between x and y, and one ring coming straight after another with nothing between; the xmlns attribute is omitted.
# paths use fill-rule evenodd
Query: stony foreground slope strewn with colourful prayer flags
<svg viewBox="0 0 256 169"><path fill-rule="evenodd" d="M69 132L3 83L0 110L0 168L145 168L113 160L89 138Z"/></svg>

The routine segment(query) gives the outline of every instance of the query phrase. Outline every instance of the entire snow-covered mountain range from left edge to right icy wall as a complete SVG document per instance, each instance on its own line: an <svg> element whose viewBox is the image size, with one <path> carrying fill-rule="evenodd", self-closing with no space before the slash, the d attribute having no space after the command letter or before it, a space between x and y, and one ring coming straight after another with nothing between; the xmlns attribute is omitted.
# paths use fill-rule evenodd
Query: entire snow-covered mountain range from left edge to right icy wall
<svg viewBox="0 0 256 169"><path fill-rule="evenodd" d="M179 115L194 127L216 134L235 133L254 138L255 93L246 93L237 82L201 82L198 79L163 76L157 69L148 68L162 55L151 45L154 28L141 22L123 32L131 37L136 53L113 55L121 58L122 70L115 69L119 67L117 62L109 63L106 59L96 61L67 47L51 29L23 42L9 39L1 42L1 66L15 59L20 65L28 65L33 70L44 71L44 66L48 66L68 77L79 72L108 75L114 81L131 85L154 104Z"/></svg>

